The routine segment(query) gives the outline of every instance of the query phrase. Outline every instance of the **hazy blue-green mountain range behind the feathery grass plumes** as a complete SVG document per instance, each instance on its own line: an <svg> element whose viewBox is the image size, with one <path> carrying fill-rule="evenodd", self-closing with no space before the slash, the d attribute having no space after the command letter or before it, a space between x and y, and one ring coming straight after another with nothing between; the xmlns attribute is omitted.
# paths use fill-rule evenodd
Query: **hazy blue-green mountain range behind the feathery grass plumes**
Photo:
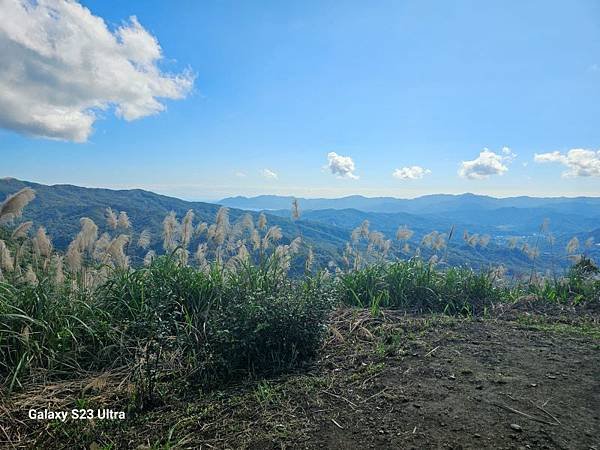
<svg viewBox="0 0 600 450"><path fill-rule="evenodd" d="M153 192L85 188L73 185L43 185L14 178L0 179L0 201L23 187L36 191L36 199L24 211L26 220L44 225L55 246L65 249L79 230L79 219L89 217L107 231L104 214L107 207L115 211L126 211L133 223L133 231L148 228L154 236L154 248L162 242L162 220L170 211L182 217L189 209L196 215L196 223L211 223L221 205L230 209L235 221L249 212L254 219L258 211L266 211L271 225L278 225L283 232L283 243L302 235L306 243L313 246L317 263L339 261L341 251L350 238L351 230L368 220L372 230L394 239L400 226L414 231L412 248L421 238L433 231L448 233L453 230L453 239L446 258L452 265L487 267L504 264L513 272L525 272L531 265L528 257L518 249L508 249L507 241L519 237L521 242L540 242L543 254L560 253L566 242L577 236L581 242L589 237L600 241L600 198L494 198L474 194L429 195L416 199L392 197L369 198L351 196L340 199L298 199L301 218L291 220L290 207L293 197L260 196L253 198L232 197L219 204L188 202ZM540 226L549 220L555 238L555 247L538 238ZM489 234L490 244L486 248L471 247L462 240L463 232ZM600 258L600 246L586 250L591 256ZM432 253L423 249L423 255ZM564 253L564 251L563 251ZM401 245L394 242L392 254L401 257ZM566 256L566 255L565 255ZM545 262L544 262L545 261ZM540 258L540 268L550 267L548 258ZM566 257L552 262L565 267ZM547 267L546 267L547 266Z"/></svg>

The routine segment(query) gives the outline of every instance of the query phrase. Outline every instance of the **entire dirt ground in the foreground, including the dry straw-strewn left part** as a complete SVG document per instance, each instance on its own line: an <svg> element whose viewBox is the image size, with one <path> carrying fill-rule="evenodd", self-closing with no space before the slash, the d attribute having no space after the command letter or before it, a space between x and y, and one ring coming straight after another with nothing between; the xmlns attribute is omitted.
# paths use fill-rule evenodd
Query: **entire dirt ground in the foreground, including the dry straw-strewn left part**
<svg viewBox="0 0 600 450"><path fill-rule="evenodd" d="M15 397L10 407L4 403L3 445L600 449L597 316L506 318L340 311L321 358L298 373L217 392L180 392L122 422L28 420L27 399L43 392L53 397L49 402L73 402L84 389L94 398L93 380L66 391L40 389ZM115 390L94 402L114 409L123 395Z"/></svg>

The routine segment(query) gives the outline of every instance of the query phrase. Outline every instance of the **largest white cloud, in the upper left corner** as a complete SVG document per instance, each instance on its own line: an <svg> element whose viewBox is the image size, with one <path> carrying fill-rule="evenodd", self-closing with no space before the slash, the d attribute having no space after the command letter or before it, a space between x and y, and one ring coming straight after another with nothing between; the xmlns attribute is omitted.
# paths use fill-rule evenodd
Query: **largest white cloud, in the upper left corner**
<svg viewBox="0 0 600 450"><path fill-rule="evenodd" d="M97 113L127 121L165 109L193 86L161 72L162 50L135 17L114 31L75 1L0 1L0 127L84 142Z"/></svg>

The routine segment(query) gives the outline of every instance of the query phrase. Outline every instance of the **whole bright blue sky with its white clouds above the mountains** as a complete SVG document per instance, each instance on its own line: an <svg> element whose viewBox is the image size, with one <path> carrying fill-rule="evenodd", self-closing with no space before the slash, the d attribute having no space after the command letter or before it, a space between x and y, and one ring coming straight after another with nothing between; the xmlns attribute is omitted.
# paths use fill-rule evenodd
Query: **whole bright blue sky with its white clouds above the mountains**
<svg viewBox="0 0 600 450"><path fill-rule="evenodd" d="M600 3L0 2L0 177L600 195Z"/></svg>

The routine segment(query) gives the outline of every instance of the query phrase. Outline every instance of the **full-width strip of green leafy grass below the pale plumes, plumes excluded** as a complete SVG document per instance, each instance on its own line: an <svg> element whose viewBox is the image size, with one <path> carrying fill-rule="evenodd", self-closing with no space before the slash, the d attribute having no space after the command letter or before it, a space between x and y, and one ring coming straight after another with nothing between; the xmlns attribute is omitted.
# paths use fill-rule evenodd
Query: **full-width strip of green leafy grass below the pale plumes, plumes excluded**
<svg viewBox="0 0 600 450"><path fill-rule="evenodd" d="M292 279L273 262L226 272L181 266L115 269L93 289L0 283L0 375L8 390L32 377L130 366L136 402L150 401L160 373L203 386L289 370L310 361L328 311L339 305L484 314L523 295L539 301L600 303L593 266L544 283L503 284L492 272L436 269L421 260L371 265L337 277Z"/></svg>

